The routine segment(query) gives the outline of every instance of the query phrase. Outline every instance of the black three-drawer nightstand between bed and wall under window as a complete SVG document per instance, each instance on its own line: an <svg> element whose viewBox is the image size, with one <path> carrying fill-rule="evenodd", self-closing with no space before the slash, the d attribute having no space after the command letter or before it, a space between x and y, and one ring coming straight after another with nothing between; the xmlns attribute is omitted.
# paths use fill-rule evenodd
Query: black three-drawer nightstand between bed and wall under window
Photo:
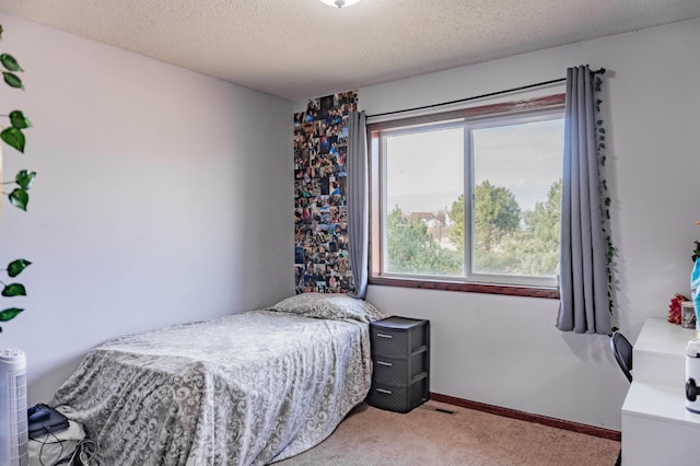
<svg viewBox="0 0 700 466"><path fill-rule="evenodd" d="M428 401L430 321L393 316L370 324L375 408L408 412Z"/></svg>

